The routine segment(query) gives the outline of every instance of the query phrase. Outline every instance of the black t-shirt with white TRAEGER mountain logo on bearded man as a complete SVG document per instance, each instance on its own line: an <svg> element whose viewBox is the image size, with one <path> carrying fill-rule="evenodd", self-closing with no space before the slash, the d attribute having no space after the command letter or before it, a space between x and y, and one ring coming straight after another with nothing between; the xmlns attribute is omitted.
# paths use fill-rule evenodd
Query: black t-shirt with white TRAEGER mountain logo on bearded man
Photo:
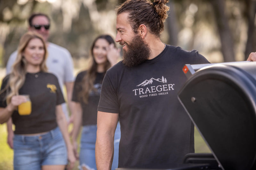
<svg viewBox="0 0 256 170"><path fill-rule="evenodd" d="M187 80L185 64L209 63L196 50L166 45L151 60L110 68L103 80L98 110L119 113L118 167L172 168L194 151L194 125L178 101Z"/></svg>

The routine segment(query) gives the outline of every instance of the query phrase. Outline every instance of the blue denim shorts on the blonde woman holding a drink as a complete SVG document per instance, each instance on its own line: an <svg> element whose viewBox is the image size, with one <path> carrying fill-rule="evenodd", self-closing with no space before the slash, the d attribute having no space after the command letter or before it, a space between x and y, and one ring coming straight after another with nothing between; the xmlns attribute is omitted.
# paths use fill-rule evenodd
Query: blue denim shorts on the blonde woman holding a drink
<svg viewBox="0 0 256 170"><path fill-rule="evenodd" d="M14 135L13 150L14 170L68 164L66 144L58 127L43 135Z"/></svg>

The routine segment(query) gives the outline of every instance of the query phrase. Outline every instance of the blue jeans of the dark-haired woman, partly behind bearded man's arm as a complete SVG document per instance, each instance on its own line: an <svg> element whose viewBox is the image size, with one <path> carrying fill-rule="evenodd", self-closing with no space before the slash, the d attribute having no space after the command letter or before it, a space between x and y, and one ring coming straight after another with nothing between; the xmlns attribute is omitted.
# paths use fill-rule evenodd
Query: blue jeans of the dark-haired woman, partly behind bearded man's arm
<svg viewBox="0 0 256 170"><path fill-rule="evenodd" d="M81 143L80 143L80 168L85 166L87 169L96 170L95 161L95 143L96 143L96 132L97 125L87 125L83 126ZM119 141L121 137L120 123L117 123L115 138L114 138L114 158L112 163L112 170L116 169L118 166L118 151L119 151Z"/></svg>

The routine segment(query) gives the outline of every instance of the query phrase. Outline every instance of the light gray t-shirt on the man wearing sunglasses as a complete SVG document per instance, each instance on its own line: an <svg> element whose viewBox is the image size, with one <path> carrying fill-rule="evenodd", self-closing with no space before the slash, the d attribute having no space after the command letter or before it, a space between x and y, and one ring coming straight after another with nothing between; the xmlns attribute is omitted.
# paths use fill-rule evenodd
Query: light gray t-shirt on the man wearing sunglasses
<svg viewBox="0 0 256 170"><path fill-rule="evenodd" d="M49 42L48 47L48 57L46 60L46 65L48 67L48 71L53 73L59 81L60 87L63 87L66 82L74 81L74 66L73 60L66 48L60 47L56 44ZM9 74L12 69L12 64L14 63L17 57L17 50L14 51L7 62L6 65L6 74ZM62 89L63 92L63 89ZM68 119L68 109L66 103L62 104L62 109L64 114Z"/></svg>

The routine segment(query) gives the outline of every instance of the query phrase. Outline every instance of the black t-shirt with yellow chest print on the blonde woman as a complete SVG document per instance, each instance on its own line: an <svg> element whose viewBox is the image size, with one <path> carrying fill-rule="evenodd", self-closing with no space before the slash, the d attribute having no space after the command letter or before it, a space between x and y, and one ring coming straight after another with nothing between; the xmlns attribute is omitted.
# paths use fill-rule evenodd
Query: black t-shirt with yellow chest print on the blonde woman
<svg viewBox="0 0 256 170"><path fill-rule="evenodd" d="M9 75L3 79L1 91L8 81ZM15 134L47 132L58 126L55 107L65 100L56 76L46 72L27 73L19 94L29 95L32 110L30 115L19 115L17 110L13 112ZM0 95L0 107L6 107L6 91Z"/></svg>

